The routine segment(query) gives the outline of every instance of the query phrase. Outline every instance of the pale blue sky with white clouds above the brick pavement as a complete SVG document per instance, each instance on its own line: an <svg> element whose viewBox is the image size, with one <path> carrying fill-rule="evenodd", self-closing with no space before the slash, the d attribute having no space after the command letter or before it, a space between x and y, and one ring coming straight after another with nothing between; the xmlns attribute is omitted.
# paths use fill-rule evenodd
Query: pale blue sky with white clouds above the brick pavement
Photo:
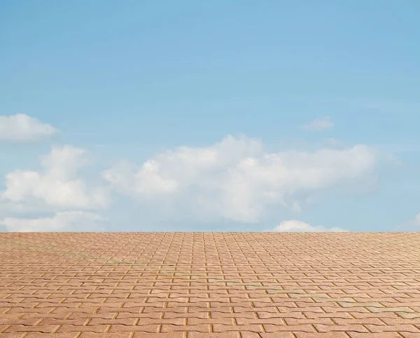
<svg viewBox="0 0 420 338"><path fill-rule="evenodd" d="M0 1L0 231L420 231L418 13Z"/></svg>

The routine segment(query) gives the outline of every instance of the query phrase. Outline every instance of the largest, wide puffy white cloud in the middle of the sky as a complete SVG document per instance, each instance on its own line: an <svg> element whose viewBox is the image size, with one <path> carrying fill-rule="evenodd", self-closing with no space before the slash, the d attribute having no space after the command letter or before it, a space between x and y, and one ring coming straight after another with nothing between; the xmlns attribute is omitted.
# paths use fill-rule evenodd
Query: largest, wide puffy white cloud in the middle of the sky
<svg viewBox="0 0 420 338"><path fill-rule="evenodd" d="M301 194L357 180L376 163L373 149L362 144L268 153L259 140L228 136L211 147L165 151L140 168L120 163L103 177L141 203L158 198L157 208L165 200L175 212L195 219L258 222L269 208L299 211Z"/></svg>

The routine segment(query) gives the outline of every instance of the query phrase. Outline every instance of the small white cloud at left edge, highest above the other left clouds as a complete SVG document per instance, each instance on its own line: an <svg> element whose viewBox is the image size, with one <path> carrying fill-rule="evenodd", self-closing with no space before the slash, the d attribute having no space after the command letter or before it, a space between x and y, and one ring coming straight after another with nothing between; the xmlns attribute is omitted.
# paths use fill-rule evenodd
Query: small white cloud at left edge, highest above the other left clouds
<svg viewBox="0 0 420 338"><path fill-rule="evenodd" d="M0 141L34 142L57 133L53 126L25 114L0 116Z"/></svg>

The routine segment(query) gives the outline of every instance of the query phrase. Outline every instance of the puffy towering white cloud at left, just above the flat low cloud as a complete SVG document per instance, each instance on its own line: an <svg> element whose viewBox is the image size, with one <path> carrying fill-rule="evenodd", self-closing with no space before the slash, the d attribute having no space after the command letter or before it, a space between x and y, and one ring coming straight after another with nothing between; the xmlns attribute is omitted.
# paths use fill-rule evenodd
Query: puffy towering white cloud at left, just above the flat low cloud
<svg viewBox="0 0 420 338"><path fill-rule="evenodd" d="M106 190L89 189L77 175L85 163L83 149L54 147L50 154L41 156L42 170L14 170L6 174L6 189L0 191L0 201L32 209L103 208L109 202Z"/></svg>

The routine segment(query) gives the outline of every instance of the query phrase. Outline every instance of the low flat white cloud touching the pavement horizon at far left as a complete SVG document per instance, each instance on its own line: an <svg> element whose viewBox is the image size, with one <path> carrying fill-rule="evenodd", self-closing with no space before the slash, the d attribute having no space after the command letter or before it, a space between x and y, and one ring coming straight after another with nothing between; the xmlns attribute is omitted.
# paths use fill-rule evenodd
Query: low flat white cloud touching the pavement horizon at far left
<svg viewBox="0 0 420 338"><path fill-rule="evenodd" d="M57 212L53 217L25 219L6 217L0 225L8 231L104 231L108 220L92 212Z"/></svg>

